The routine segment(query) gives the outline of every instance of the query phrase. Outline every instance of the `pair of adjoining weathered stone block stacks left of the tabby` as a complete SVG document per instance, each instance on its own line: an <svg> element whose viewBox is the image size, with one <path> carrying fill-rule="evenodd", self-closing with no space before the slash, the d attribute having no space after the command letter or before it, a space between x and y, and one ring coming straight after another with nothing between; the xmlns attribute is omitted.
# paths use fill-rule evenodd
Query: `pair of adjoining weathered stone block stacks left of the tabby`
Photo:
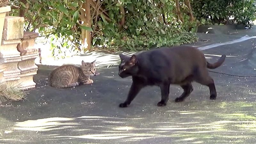
<svg viewBox="0 0 256 144"><path fill-rule="evenodd" d="M28 89L36 86L33 76L37 73L35 59L38 49L34 45L38 33L24 32L23 24L23 17L5 17L0 46L0 80L1 83Z"/></svg>

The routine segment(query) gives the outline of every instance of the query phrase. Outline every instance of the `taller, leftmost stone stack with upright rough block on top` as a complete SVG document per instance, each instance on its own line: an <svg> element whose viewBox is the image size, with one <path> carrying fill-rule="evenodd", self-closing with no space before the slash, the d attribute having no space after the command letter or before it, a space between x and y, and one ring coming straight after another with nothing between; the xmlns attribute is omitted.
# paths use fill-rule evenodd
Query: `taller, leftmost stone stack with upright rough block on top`
<svg viewBox="0 0 256 144"><path fill-rule="evenodd" d="M20 80L21 71L18 69L18 63L21 61L21 57L17 45L23 38L23 24L23 17L5 17L0 46L0 67L4 67L4 69L0 68L1 84L18 85L18 80Z"/></svg>

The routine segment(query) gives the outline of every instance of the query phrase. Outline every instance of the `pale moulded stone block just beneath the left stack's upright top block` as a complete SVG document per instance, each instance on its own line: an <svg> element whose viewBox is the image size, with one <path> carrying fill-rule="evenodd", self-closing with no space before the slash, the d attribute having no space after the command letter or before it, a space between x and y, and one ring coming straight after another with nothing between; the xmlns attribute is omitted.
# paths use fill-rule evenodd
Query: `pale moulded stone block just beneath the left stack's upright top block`
<svg viewBox="0 0 256 144"><path fill-rule="evenodd" d="M20 39L2 40L0 58L20 57L20 52L17 50L17 45L20 44L20 41Z"/></svg>

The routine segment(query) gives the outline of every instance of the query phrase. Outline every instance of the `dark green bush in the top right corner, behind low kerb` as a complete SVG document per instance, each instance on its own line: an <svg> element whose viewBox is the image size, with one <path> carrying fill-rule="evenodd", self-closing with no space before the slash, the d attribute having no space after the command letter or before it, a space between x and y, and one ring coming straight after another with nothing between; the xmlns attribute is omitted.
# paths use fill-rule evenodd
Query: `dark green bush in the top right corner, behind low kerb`
<svg viewBox="0 0 256 144"><path fill-rule="evenodd" d="M246 24L255 20L254 0L194 0L191 2L195 17L204 24L227 24L229 17L233 22Z"/></svg>

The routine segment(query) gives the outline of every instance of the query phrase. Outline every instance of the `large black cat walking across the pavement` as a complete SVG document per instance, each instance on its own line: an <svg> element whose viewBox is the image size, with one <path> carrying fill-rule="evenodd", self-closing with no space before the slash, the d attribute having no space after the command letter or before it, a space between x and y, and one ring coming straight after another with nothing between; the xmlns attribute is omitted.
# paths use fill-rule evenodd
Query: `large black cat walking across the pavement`
<svg viewBox="0 0 256 144"><path fill-rule="evenodd" d="M159 86L161 101L157 106L166 106L170 84L180 85L184 92L175 99L181 102L193 91L191 83L196 81L210 89L210 99L217 93L213 79L207 68L215 69L222 65L226 55L216 63L208 63L203 52L191 46L162 47L141 52L131 57L120 54L118 75L121 78L132 76L132 86L128 97L119 107L127 107L145 86Z"/></svg>

